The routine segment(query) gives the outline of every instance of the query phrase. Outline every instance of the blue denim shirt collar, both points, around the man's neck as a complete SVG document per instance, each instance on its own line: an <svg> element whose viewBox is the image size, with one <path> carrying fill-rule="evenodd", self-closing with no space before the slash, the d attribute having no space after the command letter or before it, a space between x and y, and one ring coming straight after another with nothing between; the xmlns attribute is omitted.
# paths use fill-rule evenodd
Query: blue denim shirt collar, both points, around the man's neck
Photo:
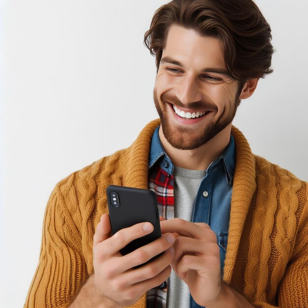
<svg viewBox="0 0 308 308"><path fill-rule="evenodd" d="M149 157L149 169L154 164L159 163L160 167L167 173L173 173L173 163L160 142L158 125L155 130L151 141L150 157ZM232 185L233 175L235 170L235 142L232 134L230 135L230 142L225 152L218 158L216 158L208 167L207 173L214 172L215 170L224 167L226 181L228 185Z"/></svg>

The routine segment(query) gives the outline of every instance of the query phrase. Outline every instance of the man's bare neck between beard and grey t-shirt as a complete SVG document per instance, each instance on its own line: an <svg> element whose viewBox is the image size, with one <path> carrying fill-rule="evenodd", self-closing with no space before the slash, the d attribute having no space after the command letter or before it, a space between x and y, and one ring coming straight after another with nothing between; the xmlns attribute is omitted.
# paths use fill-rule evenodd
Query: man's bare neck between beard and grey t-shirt
<svg viewBox="0 0 308 308"><path fill-rule="evenodd" d="M207 143L194 150L179 150L173 148L165 138L162 127L159 127L159 138L165 152L172 163L178 167L190 170L206 170L209 165L226 150L231 135L230 123Z"/></svg>

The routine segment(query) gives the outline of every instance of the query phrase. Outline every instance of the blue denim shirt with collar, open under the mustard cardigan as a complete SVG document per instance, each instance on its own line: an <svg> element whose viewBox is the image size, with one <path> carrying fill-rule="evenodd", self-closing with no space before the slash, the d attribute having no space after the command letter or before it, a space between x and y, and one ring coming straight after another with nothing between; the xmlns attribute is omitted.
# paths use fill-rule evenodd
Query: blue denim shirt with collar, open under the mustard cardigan
<svg viewBox="0 0 308 308"><path fill-rule="evenodd" d="M159 139L159 126L156 127L152 137L149 169L157 162L160 168L173 174L173 163L165 153ZM234 170L235 143L231 134L225 152L207 168L206 176L199 186L192 212L192 222L205 222L216 233L220 254L221 278L223 277L225 253L228 243ZM195 303L191 295L190 308L201 308L201 306Z"/></svg>

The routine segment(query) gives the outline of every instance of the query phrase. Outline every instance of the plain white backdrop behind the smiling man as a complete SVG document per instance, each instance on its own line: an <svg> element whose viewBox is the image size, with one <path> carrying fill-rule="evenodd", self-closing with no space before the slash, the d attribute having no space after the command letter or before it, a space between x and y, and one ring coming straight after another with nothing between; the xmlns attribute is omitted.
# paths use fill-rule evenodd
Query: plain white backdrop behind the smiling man
<svg viewBox="0 0 308 308"><path fill-rule="evenodd" d="M1 307L25 303L56 183L158 118L143 36L167 2L1 0ZM272 28L274 73L233 124L254 154L308 181L308 2L256 3Z"/></svg>

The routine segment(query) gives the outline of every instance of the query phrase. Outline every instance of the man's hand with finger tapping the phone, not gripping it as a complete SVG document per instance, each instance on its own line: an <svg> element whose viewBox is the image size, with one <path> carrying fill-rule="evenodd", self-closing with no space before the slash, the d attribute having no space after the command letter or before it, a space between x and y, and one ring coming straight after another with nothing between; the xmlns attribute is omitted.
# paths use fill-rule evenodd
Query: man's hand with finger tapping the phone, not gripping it
<svg viewBox="0 0 308 308"><path fill-rule="evenodd" d="M190 222L181 218L165 219L160 216L161 234L175 235L173 271L189 287L194 301L208 307L216 302L220 293L220 257L216 234L203 222Z"/></svg>

